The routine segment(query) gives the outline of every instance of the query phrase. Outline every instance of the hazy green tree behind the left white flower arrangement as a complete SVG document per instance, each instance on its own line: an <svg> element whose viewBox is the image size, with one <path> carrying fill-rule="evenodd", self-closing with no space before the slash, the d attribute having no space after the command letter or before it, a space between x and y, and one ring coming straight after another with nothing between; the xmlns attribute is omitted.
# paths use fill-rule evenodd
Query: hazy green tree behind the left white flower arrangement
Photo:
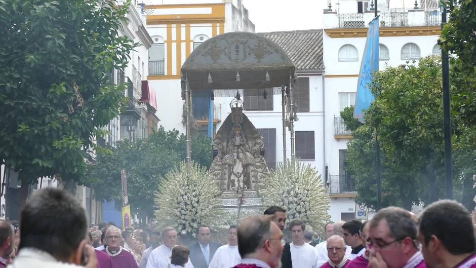
<svg viewBox="0 0 476 268"><path fill-rule="evenodd" d="M192 159L208 169L211 163L210 138L192 138ZM126 170L132 213L145 218L153 215L154 193L162 178L186 158L186 137L177 130L160 127L146 139L124 140L116 147L99 150L97 163L88 167L83 184L93 187L96 198L122 206L121 171Z"/></svg>

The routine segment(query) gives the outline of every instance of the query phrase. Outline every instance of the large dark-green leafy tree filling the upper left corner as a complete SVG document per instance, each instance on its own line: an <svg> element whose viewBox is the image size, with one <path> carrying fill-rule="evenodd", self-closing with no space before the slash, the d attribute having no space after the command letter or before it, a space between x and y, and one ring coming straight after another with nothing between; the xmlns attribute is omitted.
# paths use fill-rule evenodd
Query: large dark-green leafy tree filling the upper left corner
<svg viewBox="0 0 476 268"><path fill-rule="evenodd" d="M0 160L22 199L41 176L77 181L94 137L120 110L107 73L137 45L118 36L130 3L0 0Z"/></svg>

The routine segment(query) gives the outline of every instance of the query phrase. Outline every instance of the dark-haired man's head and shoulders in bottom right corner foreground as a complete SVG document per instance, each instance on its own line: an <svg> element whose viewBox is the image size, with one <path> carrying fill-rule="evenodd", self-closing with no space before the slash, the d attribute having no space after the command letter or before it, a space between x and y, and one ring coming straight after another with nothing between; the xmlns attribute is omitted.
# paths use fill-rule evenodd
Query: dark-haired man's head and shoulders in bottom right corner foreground
<svg viewBox="0 0 476 268"><path fill-rule="evenodd" d="M420 216L418 239L429 268L476 268L471 216L461 204L442 200Z"/></svg>

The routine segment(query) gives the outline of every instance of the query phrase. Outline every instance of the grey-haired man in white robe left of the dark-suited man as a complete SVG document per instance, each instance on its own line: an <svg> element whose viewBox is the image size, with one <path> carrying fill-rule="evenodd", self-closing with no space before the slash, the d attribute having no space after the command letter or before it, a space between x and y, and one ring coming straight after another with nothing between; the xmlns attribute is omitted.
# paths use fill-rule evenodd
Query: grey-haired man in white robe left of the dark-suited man
<svg viewBox="0 0 476 268"><path fill-rule="evenodd" d="M150 253L146 268L168 268L172 256L172 248L177 245L177 231L172 227L165 227L162 231L164 245L157 247ZM190 259L185 264L186 268L193 268Z"/></svg>

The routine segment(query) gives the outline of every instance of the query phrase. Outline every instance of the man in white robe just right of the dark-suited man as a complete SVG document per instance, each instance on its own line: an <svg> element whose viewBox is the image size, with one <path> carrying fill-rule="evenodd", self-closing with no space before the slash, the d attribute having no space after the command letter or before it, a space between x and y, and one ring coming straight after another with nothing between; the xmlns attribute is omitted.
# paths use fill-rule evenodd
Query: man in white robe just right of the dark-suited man
<svg viewBox="0 0 476 268"><path fill-rule="evenodd" d="M230 268L240 263L242 258L240 252L238 252L237 228L236 225L230 226L228 229L228 244L215 251L208 268Z"/></svg>

